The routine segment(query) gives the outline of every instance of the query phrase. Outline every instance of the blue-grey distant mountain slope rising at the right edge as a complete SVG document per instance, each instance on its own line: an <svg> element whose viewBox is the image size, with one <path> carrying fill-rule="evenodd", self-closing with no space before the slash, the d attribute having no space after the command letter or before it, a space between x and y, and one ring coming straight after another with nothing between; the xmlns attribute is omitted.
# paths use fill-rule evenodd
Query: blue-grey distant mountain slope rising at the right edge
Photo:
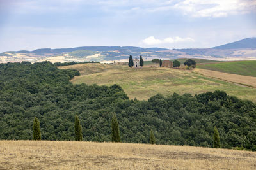
<svg viewBox="0 0 256 170"><path fill-rule="evenodd" d="M214 47L214 49L225 50L225 49L241 49L241 48L256 48L256 38L246 38L234 43L228 43Z"/></svg>

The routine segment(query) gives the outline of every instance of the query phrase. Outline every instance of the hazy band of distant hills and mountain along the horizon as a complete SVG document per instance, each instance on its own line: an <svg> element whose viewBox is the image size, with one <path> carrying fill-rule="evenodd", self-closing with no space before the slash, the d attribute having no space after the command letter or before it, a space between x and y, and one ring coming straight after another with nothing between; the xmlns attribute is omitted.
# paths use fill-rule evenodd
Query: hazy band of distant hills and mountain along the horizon
<svg viewBox="0 0 256 170"><path fill-rule="evenodd" d="M143 56L144 60L199 58L210 60L256 60L256 38L246 38L214 48L141 48L136 46L82 46L76 48L42 48L33 51L8 51L0 53L0 62L113 62L127 61L129 55Z"/></svg>

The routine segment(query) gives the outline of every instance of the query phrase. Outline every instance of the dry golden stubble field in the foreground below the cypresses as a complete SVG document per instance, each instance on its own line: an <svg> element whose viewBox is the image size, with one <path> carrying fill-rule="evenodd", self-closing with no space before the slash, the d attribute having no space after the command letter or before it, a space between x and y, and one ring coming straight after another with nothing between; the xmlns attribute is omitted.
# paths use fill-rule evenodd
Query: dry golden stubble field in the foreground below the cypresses
<svg viewBox="0 0 256 170"><path fill-rule="evenodd" d="M256 169L256 152L132 143L0 141L0 169Z"/></svg>

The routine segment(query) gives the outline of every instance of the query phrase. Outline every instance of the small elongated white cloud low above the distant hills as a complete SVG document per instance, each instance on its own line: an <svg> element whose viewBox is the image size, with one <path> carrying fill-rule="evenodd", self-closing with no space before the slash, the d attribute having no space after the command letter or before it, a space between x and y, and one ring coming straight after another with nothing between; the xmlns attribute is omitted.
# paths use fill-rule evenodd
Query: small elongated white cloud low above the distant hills
<svg viewBox="0 0 256 170"><path fill-rule="evenodd" d="M159 44L170 44L170 43L180 43L180 42L191 42L195 41L193 38L180 38L179 36L175 36L175 38L168 37L164 39L156 39L154 36L150 36L148 38L143 39L143 43L146 45L159 45Z"/></svg>

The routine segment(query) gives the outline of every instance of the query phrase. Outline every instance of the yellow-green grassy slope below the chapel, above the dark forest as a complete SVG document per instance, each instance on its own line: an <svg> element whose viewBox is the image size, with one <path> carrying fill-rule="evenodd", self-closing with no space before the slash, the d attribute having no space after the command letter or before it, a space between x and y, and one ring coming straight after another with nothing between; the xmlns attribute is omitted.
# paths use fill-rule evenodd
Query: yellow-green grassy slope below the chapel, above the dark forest
<svg viewBox="0 0 256 170"><path fill-rule="evenodd" d="M234 83L208 78L200 74L181 69L150 68L131 69L122 65L109 64L77 64L61 67L77 69L81 76L75 77L74 84L120 85L132 99L148 99L161 93L164 95L184 93L202 93L214 90L225 90L228 94L250 99L256 102L256 89L243 87Z"/></svg>

